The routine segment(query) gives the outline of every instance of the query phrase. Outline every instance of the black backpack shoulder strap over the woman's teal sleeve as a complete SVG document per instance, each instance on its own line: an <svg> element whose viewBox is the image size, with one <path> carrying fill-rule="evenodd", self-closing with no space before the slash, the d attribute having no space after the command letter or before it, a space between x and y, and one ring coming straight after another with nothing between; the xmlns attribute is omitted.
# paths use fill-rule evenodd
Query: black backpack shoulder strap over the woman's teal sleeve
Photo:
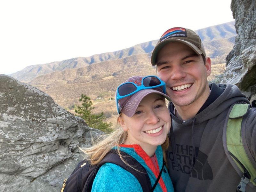
<svg viewBox="0 0 256 192"><path fill-rule="evenodd" d="M147 171L145 168L132 156L129 154L125 153L124 151L120 151L123 159L127 164L131 165L132 167L128 166L125 164L121 159L120 156L118 155L117 151L115 149L112 149L108 152L108 154L100 161L99 167L105 163L113 163L116 165L119 165L126 171L132 173L134 177L139 181L141 188L144 192L148 192L151 190L151 182L148 176Z"/></svg>

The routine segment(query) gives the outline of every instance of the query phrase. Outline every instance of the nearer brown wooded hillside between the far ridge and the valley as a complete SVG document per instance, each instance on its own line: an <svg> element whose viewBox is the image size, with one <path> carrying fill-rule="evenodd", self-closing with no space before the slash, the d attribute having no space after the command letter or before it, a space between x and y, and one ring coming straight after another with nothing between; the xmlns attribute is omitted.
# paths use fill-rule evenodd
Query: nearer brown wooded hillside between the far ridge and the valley
<svg viewBox="0 0 256 192"><path fill-rule="evenodd" d="M114 97L116 87L131 74L156 74L149 59L149 54L136 54L87 67L52 72L36 77L30 84L48 93L61 106L69 107L78 102L81 94L90 95L92 99L101 95Z"/></svg>

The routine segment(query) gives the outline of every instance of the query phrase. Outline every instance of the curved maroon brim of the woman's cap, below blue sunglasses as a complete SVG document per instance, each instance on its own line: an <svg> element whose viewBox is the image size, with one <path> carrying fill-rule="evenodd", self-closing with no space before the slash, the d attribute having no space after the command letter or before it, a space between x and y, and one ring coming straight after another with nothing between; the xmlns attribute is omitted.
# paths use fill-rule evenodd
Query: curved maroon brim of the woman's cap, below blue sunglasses
<svg viewBox="0 0 256 192"><path fill-rule="evenodd" d="M128 117L132 117L134 115L136 109L138 108L140 101L144 97L146 97L148 94L151 94L151 93L157 93L157 94L163 95L167 100L172 101L172 99L168 95L166 95L162 92L159 92L154 89L144 89L137 93L134 93L132 95L132 97L125 103L121 112L124 113Z"/></svg>

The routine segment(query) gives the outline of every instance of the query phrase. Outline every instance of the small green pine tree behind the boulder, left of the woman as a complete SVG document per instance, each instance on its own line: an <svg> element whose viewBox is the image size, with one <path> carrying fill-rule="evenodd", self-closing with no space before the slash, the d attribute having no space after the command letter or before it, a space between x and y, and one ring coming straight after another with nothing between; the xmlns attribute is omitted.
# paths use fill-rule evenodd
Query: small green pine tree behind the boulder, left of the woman
<svg viewBox="0 0 256 192"><path fill-rule="evenodd" d="M110 133L113 131L110 128L112 123L103 122L106 119L106 116L104 116L103 112L100 114L92 113L94 107L92 107L92 101L90 97L82 94L79 101L82 101L82 106L77 106L75 112L80 114L79 116L85 120L89 127L99 129L105 133Z"/></svg>

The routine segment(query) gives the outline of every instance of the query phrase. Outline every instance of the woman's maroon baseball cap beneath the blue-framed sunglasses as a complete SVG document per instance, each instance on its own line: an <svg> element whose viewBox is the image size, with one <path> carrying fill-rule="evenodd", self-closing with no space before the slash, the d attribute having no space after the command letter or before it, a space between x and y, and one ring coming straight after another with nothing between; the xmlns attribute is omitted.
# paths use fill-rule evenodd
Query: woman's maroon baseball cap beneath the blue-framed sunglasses
<svg viewBox="0 0 256 192"><path fill-rule="evenodd" d="M143 76L132 76L129 79L127 79L124 83L133 82L137 86L141 86L142 79L143 79ZM122 84L124 84L124 83L122 83ZM164 84L164 86L165 86L165 84ZM124 113L128 117L132 117L134 115L136 109L138 108L140 101L144 97L146 97L148 94L151 94L151 93L163 95L167 100L169 100L169 101L172 100L168 95L164 94L163 87L155 87L155 88L148 87L148 89L140 90L139 92L136 92L128 97L119 99L118 103L116 103L116 104L119 105L122 113Z"/></svg>

